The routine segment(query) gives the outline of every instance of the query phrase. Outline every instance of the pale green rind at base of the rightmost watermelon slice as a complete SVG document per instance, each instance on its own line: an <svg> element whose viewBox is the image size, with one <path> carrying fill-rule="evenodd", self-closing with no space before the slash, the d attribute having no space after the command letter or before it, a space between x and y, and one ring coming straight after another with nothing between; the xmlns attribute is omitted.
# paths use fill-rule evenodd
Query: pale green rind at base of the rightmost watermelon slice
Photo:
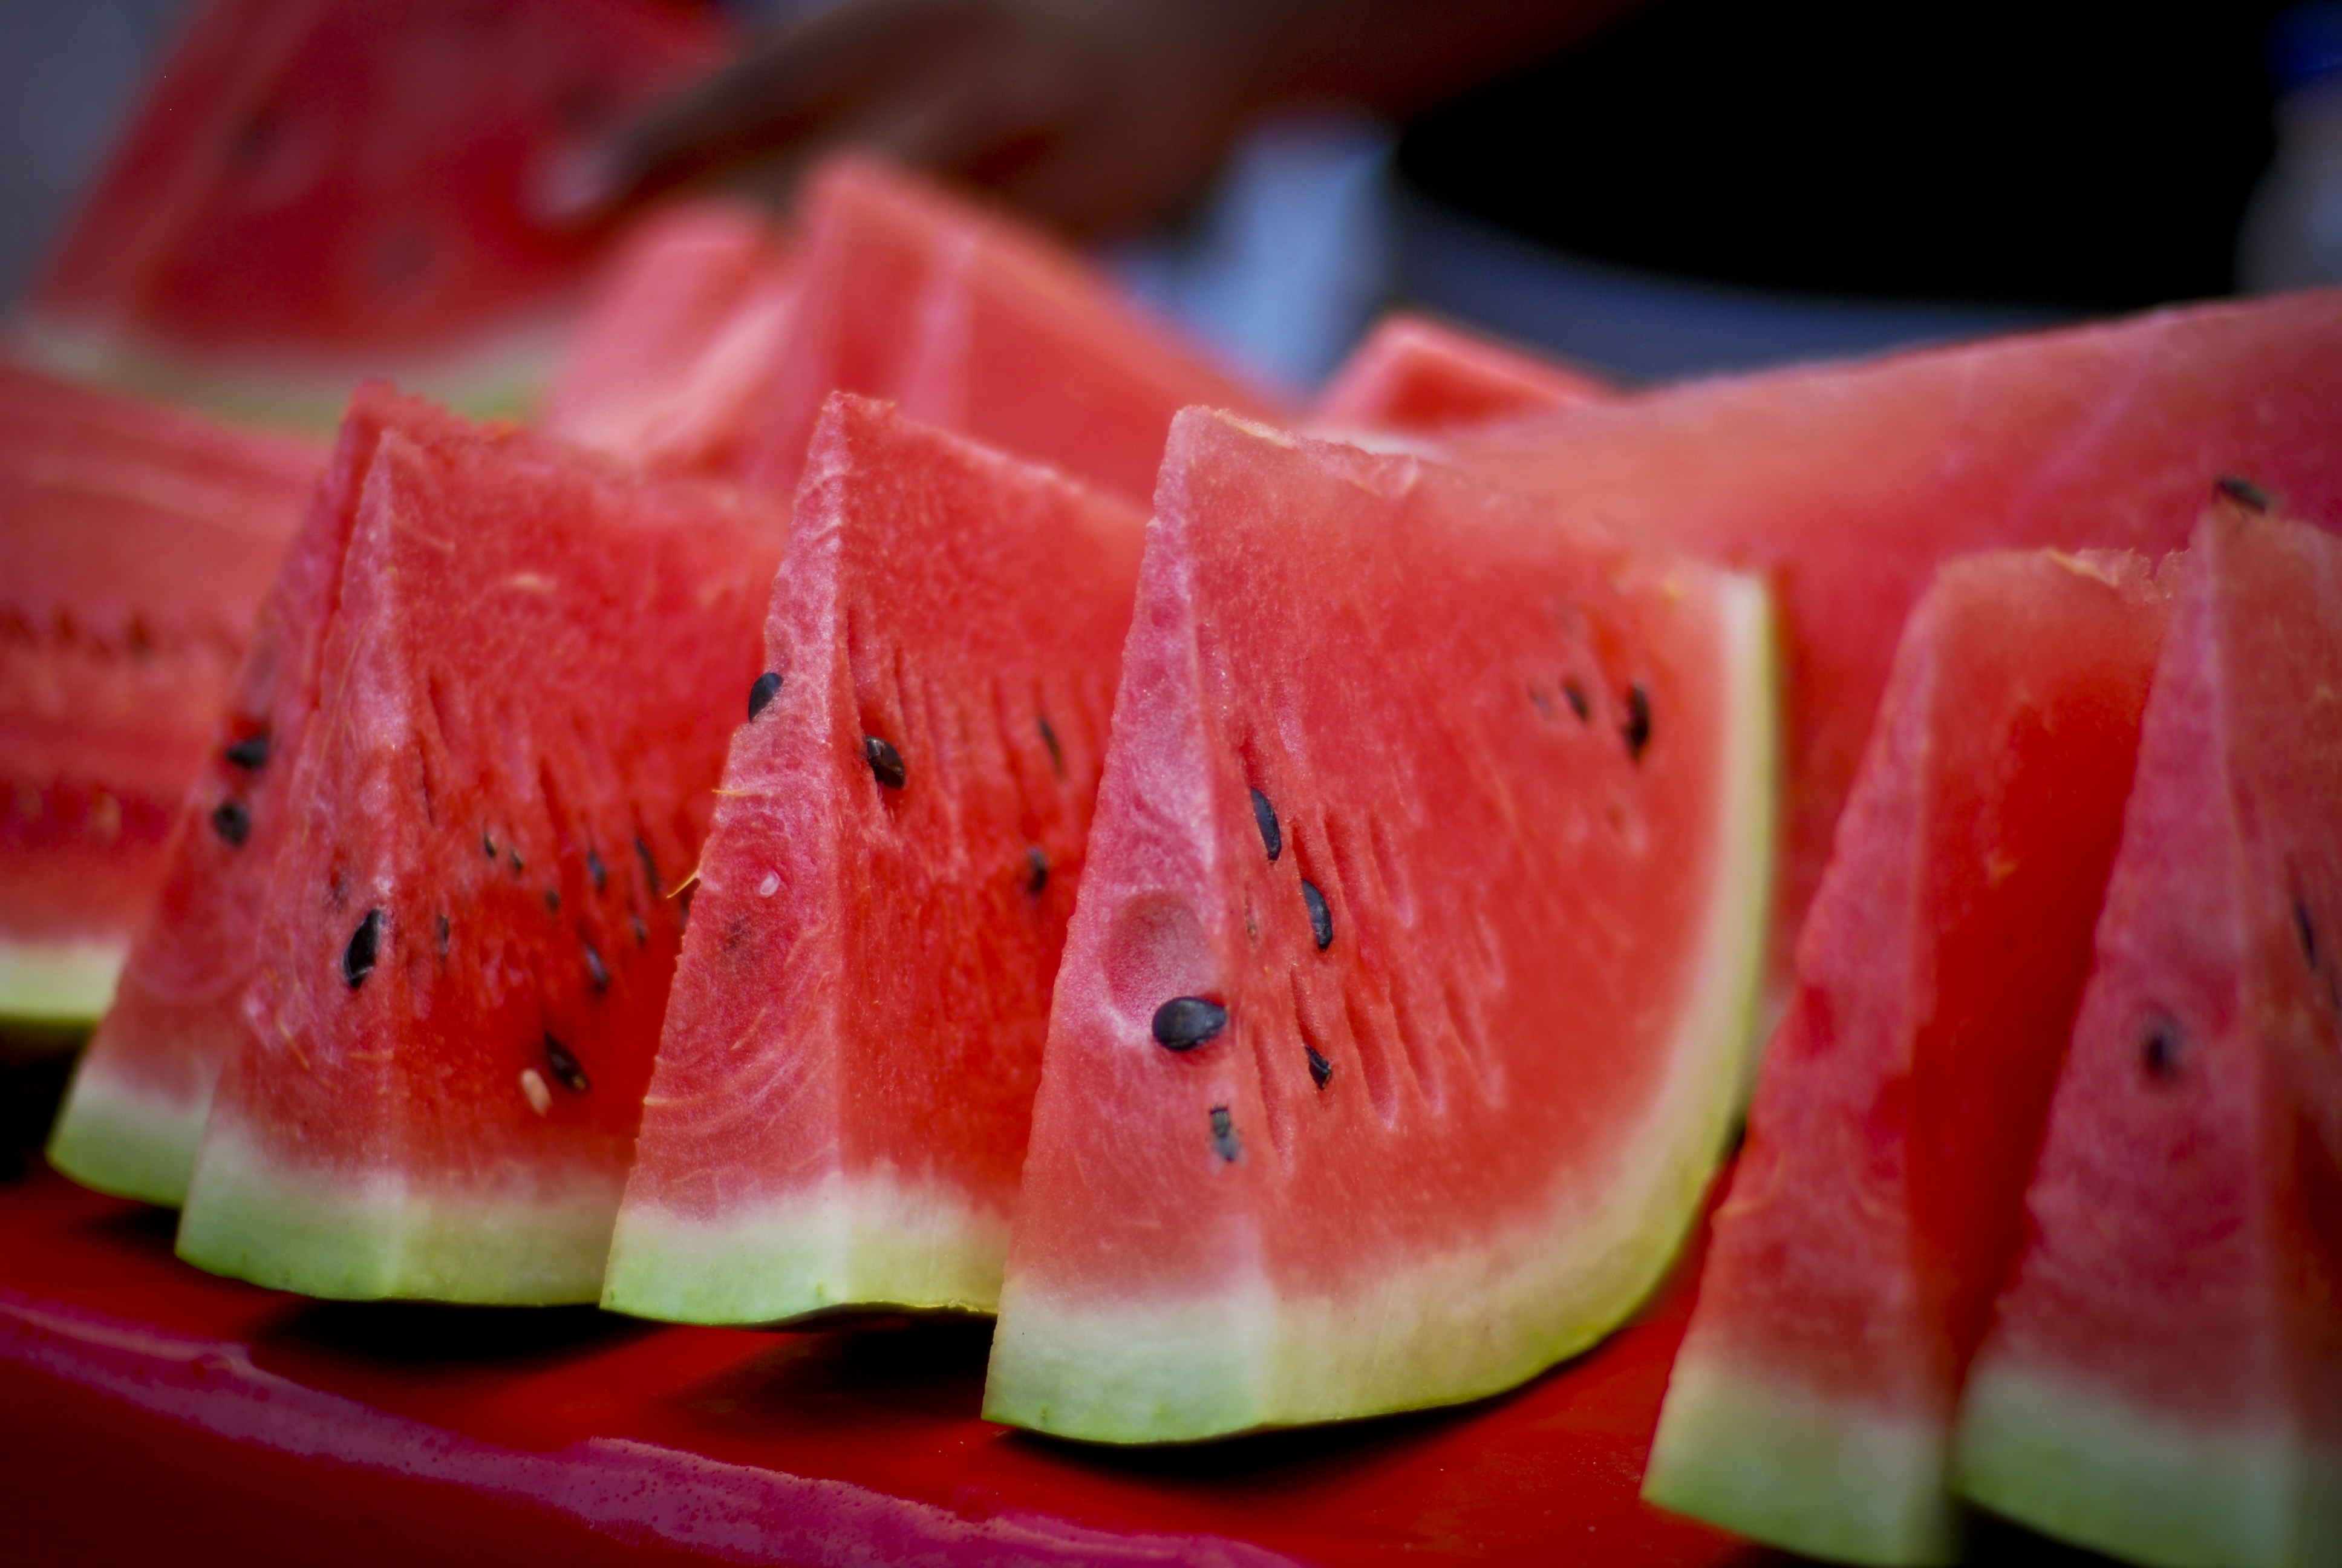
<svg viewBox="0 0 2342 1568"><path fill-rule="evenodd" d="M1953 1486L2150 1568L2342 1563L2342 1448L2283 1430L2201 1430L2005 1362L1967 1385Z"/></svg>

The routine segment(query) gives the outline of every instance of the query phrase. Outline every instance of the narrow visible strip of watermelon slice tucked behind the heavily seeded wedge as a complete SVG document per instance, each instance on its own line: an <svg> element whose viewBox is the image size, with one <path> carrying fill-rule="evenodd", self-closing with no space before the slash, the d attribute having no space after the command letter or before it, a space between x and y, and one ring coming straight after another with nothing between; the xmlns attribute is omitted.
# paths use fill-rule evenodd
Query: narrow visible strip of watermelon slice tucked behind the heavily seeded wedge
<svg viewBox="0 0 2342 1568"><path fill-rule="evenodd" d="M227 710L206 729L192 785L180 785L159 895L49 1137L49 1163L84 1186L171 1207L187 1195L213 1083L246 1029L255 921L290 832L288 773L319 705L358 492L393 427L415 441L464 429L379 384L351 401L260 605Z"/></svg>

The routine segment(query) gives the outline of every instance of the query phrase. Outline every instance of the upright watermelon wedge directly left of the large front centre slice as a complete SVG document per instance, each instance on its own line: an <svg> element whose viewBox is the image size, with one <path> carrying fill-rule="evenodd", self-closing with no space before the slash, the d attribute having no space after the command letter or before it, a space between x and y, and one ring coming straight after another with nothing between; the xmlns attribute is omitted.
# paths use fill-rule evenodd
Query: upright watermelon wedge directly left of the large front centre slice
<svg viewBox="0 0 2342 1568"><path fill-rule="evenodd" d="M808 462L611 1245L646 1317L993 1310L1082 881L1143 513L845 394Z"/></svg>

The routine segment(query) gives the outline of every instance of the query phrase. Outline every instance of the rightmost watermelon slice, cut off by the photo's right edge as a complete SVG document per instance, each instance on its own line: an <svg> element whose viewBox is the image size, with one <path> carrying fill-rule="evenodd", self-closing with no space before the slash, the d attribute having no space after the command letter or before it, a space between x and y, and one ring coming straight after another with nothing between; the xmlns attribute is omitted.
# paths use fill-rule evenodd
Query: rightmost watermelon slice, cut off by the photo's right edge
<svg viewBox="0 0 2342 1568"><path fill-rule="evenodd" d="M2143 1563L2335 1563L2342 544L2227 506L2190 555L1958 1486Z"/></svg>

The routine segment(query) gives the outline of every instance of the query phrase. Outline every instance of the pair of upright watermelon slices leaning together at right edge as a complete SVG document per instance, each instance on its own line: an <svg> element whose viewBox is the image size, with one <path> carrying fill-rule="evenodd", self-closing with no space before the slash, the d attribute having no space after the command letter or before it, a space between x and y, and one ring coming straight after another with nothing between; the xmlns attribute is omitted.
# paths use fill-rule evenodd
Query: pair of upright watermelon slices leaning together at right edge
<svg viewBox="0 0 2342 1568"><path fill-rule="evenodd" d="M1864 1563L1953 1561L1953 1486L2148 1563L2342 1552L2342 544L2262 506L2159 581L1923 600L1653 1500Z"/></svg>

